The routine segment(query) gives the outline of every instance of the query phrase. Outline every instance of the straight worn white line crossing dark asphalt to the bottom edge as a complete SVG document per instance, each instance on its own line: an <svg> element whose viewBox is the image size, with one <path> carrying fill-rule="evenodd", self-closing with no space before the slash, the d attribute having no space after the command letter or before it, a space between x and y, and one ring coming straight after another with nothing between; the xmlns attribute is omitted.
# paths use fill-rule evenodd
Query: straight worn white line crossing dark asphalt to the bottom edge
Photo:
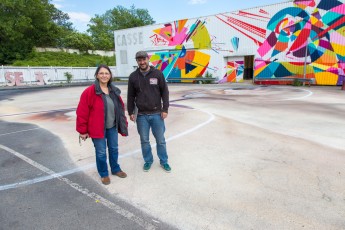
<svg viewBox="0 0 345 230"><path fill-rule="evenodd" d="M104 197L102 197L102 196L100 196L94 192L90 192L88 189L83 188L81 185L74 183L70 179L62 177L61 174L55 173L54 171L50 170L49 168L37 163L36 161L31 160L30 158L24 156L23 154L18 153L16 151L14 151L13 149L10 149L10 148L8 148L4 145L1 145L1 144L0 144L0 148L7 151L7 152L12 153L16 157L22 159L23 161L27 162L28 164L32 165L33 167L53 176L54 178L65 182L67 185L74 188L78 192L90 197L91 199L95 200L98 203L103 204L105 207L115 211L116 213L120 214L121 216L137 223L138 225L142 226L144 229L148 229L148 230L156 229L156 227L154 225L146 222L145 220L141 219L140 217L134 215L133 213L121 208L120 206L110 202L109 200L105 199Z"/></svg>

